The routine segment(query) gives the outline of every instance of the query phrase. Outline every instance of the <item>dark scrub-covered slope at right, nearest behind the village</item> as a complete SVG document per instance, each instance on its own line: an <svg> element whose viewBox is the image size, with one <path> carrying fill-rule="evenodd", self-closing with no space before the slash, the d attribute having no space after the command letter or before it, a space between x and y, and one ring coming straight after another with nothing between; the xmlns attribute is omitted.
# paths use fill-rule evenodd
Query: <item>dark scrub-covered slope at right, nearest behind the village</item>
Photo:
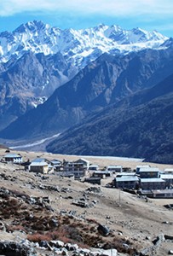
<svg viewBox="0 0 173 256"><path fill-rule="evenodd" d="M173 75L66 131L52 153L140 157L173 164Z"/></svg>

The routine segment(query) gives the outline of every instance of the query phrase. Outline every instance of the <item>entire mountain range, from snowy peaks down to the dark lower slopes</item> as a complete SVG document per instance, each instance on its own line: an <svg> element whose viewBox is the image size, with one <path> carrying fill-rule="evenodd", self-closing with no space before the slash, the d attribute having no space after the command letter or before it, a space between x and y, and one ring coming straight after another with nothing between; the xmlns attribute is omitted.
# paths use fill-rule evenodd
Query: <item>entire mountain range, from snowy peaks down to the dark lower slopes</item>
<svg viewBox="0 0 173 256"><path fill-rule="evenodd" d="M150 120L154 127L153 112L145 110L148 106L154 109L153 99L160 105L157 113L163 114L164 100L171 98L170 91L169 96L168 93L165 96L164 83L171 80L173 73L172 49L172 38L159 32L140 28L128 31L119 26L62 31L35 20L14 32L0 33L0 137L30 139L62 132L61 137L48 146L49 151L166 160L158 151L158 158L152 151L153 143L163 144L163 137L158 134L161 128L155 129L155 137L160 140L156 143L151 139L148 143L151 157L148 147L132 150L137 146L125 138L125 132L132 136L142 127L140 137L142 134L147 137L147 125L131 126L127 120L131 118L130 123L136 124L142 108L144 123ZM163 95L158 98L157 89L153 88L163 91ZM137 106L133 103L136 98ZM170 113L169 108L167 110ZM95 132L101 125L99 120L102 123L105 120L106 126L114 126L114 131L104 128L101 134ZM90 127L89 134L85 127ZM129 132L122 127L129 127ZM164 126L161 127L164 132ZM150 135L152 138L153 133ZM169 136L168 132L167 142ZM66 139L71 142L68 147ZM141 148L146 142L138 137L134 137L134 141L141 143ZM166 150L164 153L166 155Z"/></svg>

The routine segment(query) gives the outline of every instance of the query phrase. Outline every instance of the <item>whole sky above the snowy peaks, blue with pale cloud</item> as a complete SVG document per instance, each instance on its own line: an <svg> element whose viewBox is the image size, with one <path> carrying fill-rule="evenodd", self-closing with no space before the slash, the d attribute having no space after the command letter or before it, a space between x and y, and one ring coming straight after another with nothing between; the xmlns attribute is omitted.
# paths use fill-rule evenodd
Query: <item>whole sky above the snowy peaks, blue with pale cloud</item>
<svg viewBox="0 0 173 256"><path fill-rule="evenodd" d="M61 29L104 23L173 37L173 0L0 0L0 32L42 20Z"/></svg>

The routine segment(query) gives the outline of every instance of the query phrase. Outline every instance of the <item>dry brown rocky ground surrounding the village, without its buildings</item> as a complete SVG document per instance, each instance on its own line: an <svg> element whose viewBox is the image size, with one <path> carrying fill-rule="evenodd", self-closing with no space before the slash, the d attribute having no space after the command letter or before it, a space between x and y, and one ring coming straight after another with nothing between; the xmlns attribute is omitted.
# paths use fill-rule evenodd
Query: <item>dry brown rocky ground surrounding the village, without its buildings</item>
<svg viewBox="0 0 173 256"><path fill-rule="evenodd" d="M0 155L5 149L0 150ZM36 153L21 153L34 158ZM40 154L47 158L65 158ZM75 157L74 157L75 158ZM72 160L72 156L71 159ZM107 166L111 160L92 159ZM135 161L124 161L135 168ZM172 166L159 166L160 169ZM173 250L170 200L149 200L55 174L0 163L0 254L168 255Z"/></svg>

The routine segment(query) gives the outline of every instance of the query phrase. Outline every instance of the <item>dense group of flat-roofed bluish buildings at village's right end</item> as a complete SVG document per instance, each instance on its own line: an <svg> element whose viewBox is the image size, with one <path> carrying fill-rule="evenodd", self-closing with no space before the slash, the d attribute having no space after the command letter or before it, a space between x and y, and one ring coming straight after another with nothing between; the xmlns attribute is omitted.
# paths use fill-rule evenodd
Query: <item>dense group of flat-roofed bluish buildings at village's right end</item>
<svg viewBox="0 0 173 256"><path fill-rule="evenodd" d="M113 179L118 189L140 190L141 195L155 198L173 198L173 169L136 166L136 172L121 172Z"/></svg>

